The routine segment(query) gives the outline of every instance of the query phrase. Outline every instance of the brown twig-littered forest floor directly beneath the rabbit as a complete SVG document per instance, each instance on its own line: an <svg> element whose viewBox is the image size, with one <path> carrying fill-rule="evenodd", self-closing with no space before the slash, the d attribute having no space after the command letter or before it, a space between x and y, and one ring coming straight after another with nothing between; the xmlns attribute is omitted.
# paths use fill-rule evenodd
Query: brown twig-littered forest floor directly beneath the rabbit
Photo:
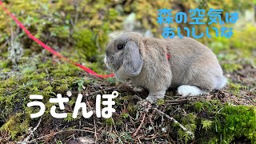
<svg viewBox="0 0 256 144"><path fill-rule="evenodd" d="M117 82L113 78L104 80L88 74L82 75L92 82L83 86L81 91L83 102L86 102L90 110L94 110L97 94L118 91L119 96L114 99L116 112L113 117L105 119L93 115L92 118L82 118L80 114L77 119L57 119L45 114L33 120L25 134L15 136L22 140L19 142L221 142L218 137L224 137L222 134L225 133L218 134L219 125L216 122L223 121L222 117L217 116L222 114L222 109L226 109L227 105L256 106L256 69L250 64L226 74L230 84L223 90L214 90L200 97L182 97L175 90L168 90L165 100L153 105L142 101L147 91L134 91L130 84ZM73 90L72 93L78 94L78 91ZM72 112L72 109L69 106L66 111ZM238 126L234 126L236 128ZM233 136L231 142L253 142L245 136ZM12 141L7 133L2 132L0 142Z"/></svg>

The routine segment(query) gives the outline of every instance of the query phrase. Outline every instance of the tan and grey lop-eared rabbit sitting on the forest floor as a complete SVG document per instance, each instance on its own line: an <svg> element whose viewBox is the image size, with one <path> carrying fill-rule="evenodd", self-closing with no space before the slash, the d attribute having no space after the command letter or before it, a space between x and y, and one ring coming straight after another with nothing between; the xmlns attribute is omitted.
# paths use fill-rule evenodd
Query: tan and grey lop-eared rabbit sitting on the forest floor
<svg viewBox="0 0 256 144"><path fill-rule="evenodd" d="M149 90L149 102L164 98L168 88L178 88L182 96L198 96L220 90L227 82L214 53L187 37L125 33L106 46L104 62L118 80Z"/></svg>

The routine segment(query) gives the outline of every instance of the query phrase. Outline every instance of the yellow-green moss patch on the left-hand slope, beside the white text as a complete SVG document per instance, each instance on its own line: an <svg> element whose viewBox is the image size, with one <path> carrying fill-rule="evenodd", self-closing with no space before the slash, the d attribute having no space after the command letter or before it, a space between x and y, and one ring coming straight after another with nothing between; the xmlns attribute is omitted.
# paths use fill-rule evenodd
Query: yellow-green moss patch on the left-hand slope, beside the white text
<svg viewBox="0 0 256 144"><path fill-rule="evenodd" d="M34 63L30 64L33 67ZM45 116L50 115L50 107L53 106L49 102L49 98L55 97L56 94L66 94L67 90L78 89L79 70L74 66L66 66L66 64L55 64L45 62L40 64L38 70L29 70L28 66L20 66L22 76L14 76L1 81L0 85L0 119L4 121L0 130L6 134L10 134L12 139L18 140L18 135L26 134L31 121L30 114L38 112L38 108L28 108L26 104L31 102L30 94L42 94L44 99L42 102L46 106ZM62 74L61 77L49 78ZM68 75L72 74L73 77ZM85 80L85 83L87 81ZM73 103L74 104L74 103ZM70 103L72 106L72 103ZM25 113L21 113L24 110ZM73 121L68 114L66 122Z"/></svg>

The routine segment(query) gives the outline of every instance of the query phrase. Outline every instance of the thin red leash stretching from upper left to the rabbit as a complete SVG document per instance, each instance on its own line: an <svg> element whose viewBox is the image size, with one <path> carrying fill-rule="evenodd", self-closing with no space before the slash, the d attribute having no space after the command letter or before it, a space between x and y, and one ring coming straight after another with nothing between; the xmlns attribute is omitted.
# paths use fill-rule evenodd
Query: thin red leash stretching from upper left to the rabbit
<svg viewBox="0 0 256 144"><path fill-rule="evenodd" d="M29 30L26 29L26 27L22 24L22 22L18 21L18 18L16 18L14 16L14 14L11 14L9 10L6 9L6 7L3 5L2 1L0 0L0 5L2 6L2 9L6 12L6 14L8 14L10 16L10 18L12 18L14 20L14 22L17 23L17 25L26 33L27 36L29 36L29 38L31 38L34 42L37 42L40 46L42 46L44 49L50 51L51 54L54 54L56 56L58 56L59 58L62 58L63 60L70 62L72 64L74 64L75 66L80 67L82 70L85 70L88 74L92 74L98 78L110 78L110 77L114 77L114 74L109 74L109 75L101 75L101 74L97 74L95 73L93 70L90 70L90 68L86 67L86 66L82 66L81 64L78 64L76 62L71 61L68 58L63 57L61 54L59 54L58 52L56 52L54 49L50 48L50 46L47 46L45 43L43 43L42 41L40 41L38 38L35 38L34 35L32 35L30 33Z"/></svg>

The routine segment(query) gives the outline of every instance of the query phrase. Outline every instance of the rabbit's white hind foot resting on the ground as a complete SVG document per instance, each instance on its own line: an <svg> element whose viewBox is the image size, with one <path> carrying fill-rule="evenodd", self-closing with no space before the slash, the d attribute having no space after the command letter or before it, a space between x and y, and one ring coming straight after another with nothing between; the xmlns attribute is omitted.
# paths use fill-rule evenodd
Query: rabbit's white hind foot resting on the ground
<svg viewBox="0 0 256 144"><path fill-rule="evenodd" d="M206 92L200 90L197 86L182 85L178 87L178 94L182 94L182 96L197 96L206 94Z"/></svg>

